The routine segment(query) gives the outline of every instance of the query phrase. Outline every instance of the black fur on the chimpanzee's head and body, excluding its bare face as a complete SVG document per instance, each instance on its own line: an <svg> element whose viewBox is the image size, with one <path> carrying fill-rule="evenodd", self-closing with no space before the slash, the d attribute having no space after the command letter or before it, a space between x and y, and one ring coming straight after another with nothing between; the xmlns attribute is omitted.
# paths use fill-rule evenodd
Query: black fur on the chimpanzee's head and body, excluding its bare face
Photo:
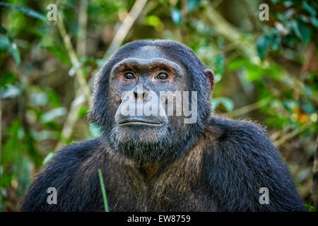
<svg viewBox="0 0 318 226"><path fill-rule="evenodd" d="M149 162L126 155L136 146L116 145L110 136L116 111L108 93L110 71L142 46L158 47L181 64L189 90L198 91L196 124L183 132L172 131L169 144L139 145L139 155L151 153ZM103 211L98 169L111 211L305 210L264 129L250 121L211 117L205 69L189 48L177 42L142 40L119 49L100 71L90 112L104 135L59 150L31 184L20 210ZM57 188L56 205L47 204L51 186ZM269 205L259 203L261 187L269 189Z"/></svg>

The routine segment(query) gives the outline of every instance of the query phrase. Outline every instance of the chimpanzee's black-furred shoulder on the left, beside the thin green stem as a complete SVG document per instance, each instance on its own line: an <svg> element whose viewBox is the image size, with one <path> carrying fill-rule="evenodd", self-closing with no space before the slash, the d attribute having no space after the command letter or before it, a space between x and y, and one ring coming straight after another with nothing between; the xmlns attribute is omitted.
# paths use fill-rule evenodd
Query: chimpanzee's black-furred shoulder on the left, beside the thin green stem
<svg viewBox="0 0 318 226"><path fill-rule="evenodd" d="M76 194L76 186L81 184L78 177L79 169L83 162L93 156L100 142L98 139L81 141L66 145L54 154L51 160L43 167L32 182L28 193L22 198L19 205L21 211L76 211L81 205L72 206L72 202L61 203L61 200L69 200ZM59 197L57 205L47 205L47 189L57 189ZM80 204L78 202L78 204Z"/></svg>

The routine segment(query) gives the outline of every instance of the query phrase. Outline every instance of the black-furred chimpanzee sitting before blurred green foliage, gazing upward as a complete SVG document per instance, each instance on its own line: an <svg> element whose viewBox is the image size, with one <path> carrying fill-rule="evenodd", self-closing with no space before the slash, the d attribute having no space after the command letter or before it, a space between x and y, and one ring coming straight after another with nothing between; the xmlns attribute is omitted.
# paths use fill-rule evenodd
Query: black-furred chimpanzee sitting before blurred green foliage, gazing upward
<svg viewBox="0 0 318 226"><path fill-rule="evenodd" d="M59 150L20 210L104 211L98 169L110 211L305 210L266 131L211 114L213 87L183 44L125 44L95 82L89 119L102 135ZM47 202L51 187L57 203Z"/></svg>

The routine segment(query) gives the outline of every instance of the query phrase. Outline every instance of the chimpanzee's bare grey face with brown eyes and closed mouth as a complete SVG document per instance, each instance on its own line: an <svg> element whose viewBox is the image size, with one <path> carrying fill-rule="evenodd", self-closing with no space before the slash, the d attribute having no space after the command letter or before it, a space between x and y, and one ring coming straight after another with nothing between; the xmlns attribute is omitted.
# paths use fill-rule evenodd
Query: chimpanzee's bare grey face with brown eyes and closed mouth
<svg viewBox="0 0 318 226"><path fill-rule="evenodd" d="M184 91L184 69L158 47L140 47L115 64L110 98L117 108L112 131L117 141L157 143L182 133L184 114L178 109Z"/></svg>

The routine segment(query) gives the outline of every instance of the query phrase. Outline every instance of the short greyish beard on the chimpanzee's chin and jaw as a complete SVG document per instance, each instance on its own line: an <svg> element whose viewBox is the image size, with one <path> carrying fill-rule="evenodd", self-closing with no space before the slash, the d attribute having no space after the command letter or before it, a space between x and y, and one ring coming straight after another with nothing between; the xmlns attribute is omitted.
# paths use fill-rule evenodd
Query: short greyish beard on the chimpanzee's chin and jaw
<svg viewBox="0 0 318 226"><path fill-rule="evenodd" d="M105 138L114 151L142 165L174 160L182 155L194 138L191 130L189 126L174 123L155 128L113 125Z"/></svg>

